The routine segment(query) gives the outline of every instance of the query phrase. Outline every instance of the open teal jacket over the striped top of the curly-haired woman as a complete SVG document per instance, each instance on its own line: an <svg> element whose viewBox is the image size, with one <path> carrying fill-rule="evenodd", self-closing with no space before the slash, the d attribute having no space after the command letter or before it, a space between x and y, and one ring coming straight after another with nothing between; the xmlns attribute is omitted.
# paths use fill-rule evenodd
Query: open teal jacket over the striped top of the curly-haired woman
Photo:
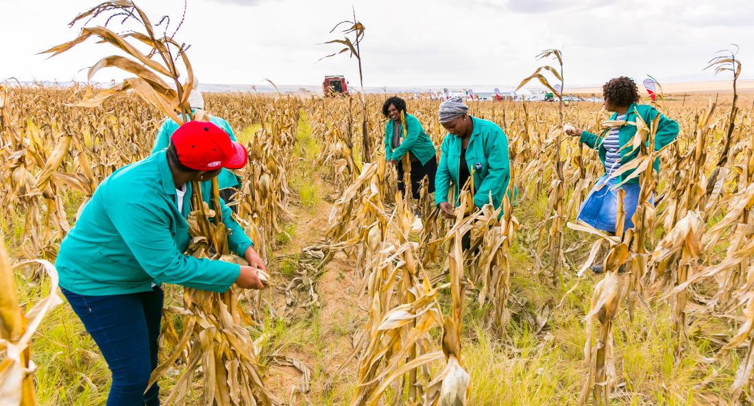
<svg viewBox="0 0 754 406"><path fill-rule="evenodd" d="M635 123L637 114L641 116L642 120L644 120L647 126L651 126L654 118L657 117L657 114L660 114L660 121L657 124L657 133L654 136L655 151L663 148L665 145L670 144L670 142L673 142L673 139L676 139L676 136L678 136L678 123L676 123L676 121L670 120L670 118L665 117L651 105L639 105L636 103L631 103L631 105L628 106L628 111L626 111L625 121ZM615 120L615 118L617 117L618 113L613 113L610 116L610 120ZM605 135L606 134L607 133L605 133ZM618 142L621 145L621 166L629 163L631 160L639 156L639 148L636 148L635 150L630 147L624 148L624 145L631 144L633 136L635 135L636 126L634 125L624 125L618 130ZM607 154L607 150L604 146L602 146L602 141L604 141L604 139L604 136L596 136L593 133L589 133L587 131L581 133L581 142L584 142L584 144L586 144L589 148L597 150L599 160L602 161L602 166L605 166L605 155ZM660 172L660 157L657 157L657 159L654 160L652 167L658 173ZM618 183L623 182L624 179L628 178L633 173L633 171L634 169L630 169L626 172L621 173L621 175L618 176ZM630 179L626 183L637 184L639 183L639 178L636 177Z"/></svg>

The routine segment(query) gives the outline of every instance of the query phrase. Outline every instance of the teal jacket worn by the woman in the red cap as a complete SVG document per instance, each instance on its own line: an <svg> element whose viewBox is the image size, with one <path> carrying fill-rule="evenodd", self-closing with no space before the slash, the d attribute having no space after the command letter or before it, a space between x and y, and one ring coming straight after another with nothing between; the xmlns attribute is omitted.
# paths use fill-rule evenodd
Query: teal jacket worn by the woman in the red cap
<svg viewBox="0 0 754 406"><path fill-rule="evenodd" d="M179 212L165 151L113 172L60 244L60 285L93 296L148 292L152 282L225 292L238 279L238 264L183 255L191 240L192 188L185 186ZM209 189L202 196L209 200ZM251 241L222 200L220 206L228 245L244 255Z"/></svg>

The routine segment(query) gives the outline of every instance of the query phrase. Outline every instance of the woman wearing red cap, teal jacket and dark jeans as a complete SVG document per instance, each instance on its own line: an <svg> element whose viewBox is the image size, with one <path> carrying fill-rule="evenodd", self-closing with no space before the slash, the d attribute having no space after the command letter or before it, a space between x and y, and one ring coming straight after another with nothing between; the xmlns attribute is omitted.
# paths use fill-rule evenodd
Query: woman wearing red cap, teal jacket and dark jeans
<svg viewBox="0 0 754 406"><path fill-rule="evenodd" d="M112 371L108 406L159 404L149 391L157 366L161 283L225 292L264 288L253 244L220 202L228 246L250 266L183 255L189 246L192 181L246 165L247 153L212 123L190 121L170 146L113 172L94 191L55 262L60 287ZM207 194L208 196L208 194Z"/></svg>

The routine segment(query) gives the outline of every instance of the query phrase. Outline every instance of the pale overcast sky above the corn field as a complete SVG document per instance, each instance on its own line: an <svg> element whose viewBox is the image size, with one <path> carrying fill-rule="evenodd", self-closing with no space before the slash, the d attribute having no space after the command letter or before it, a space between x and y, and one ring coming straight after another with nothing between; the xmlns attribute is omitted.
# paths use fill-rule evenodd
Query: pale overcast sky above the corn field
<svg viewBox="0 0 754 406"><path fill-rule="evenodd" d="M114 53L90 40L46 59L35 55L78 35L78 12L97 2L0 0L3 38L0 80L85 80L88 66ZM182 0L137 2L156 23L180 20ZM700 79L717 50L740 46L743 76L754 72L754 1L655 0L188 0L176 38L192 44L195 73L208 84L321 84L323 75L358 82L356 61L318 44L339 38L329 30L357 19L365 85L515 85L558 47L569 84L602 84L646 74L667 81ZM118 22L110 27L119 31ZM749 68L751 67L751 68ZM103 69L95 81L118 77ZM710 76L710 78L712 78ZM727 76L725 78L728 78Z"/></svg>

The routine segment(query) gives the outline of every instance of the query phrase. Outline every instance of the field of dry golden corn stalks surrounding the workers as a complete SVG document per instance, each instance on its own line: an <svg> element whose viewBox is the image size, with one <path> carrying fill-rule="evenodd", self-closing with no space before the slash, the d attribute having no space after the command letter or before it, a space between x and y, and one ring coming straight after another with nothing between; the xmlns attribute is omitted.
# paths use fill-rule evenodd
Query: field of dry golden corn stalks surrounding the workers
<svg viewBox="0 0 754 406"><path fill-rule="evenodd" d="M60 304L49 262L97 185L149 154L164 114L133 94L72 106L97 91L0 87L2 405L105 404L106 363ZM518 197L498 219L462 196L445 220L427 194L396 194L385 97L366 97L364 163L358 97L205 94L247 145L238 222L272 284L166 288L152 376L164 404L752 402L751 100L736 114L725 95L660 102L679 136L630 164L644 187L637 226L610 236L575 221L602 165L562 133L556 103L470 103L507 134ZM409 100L408 111L439 146L437 102ZM562 114L593 133L610 125L601 105ZM653 123L637 127L645 145ZM192 234L216 236L213 215L195 208ZM467 232L476 249L464 253ZM189 254L221 255L210 237ZM589 271L598 258L603 275Z"/></svg>

